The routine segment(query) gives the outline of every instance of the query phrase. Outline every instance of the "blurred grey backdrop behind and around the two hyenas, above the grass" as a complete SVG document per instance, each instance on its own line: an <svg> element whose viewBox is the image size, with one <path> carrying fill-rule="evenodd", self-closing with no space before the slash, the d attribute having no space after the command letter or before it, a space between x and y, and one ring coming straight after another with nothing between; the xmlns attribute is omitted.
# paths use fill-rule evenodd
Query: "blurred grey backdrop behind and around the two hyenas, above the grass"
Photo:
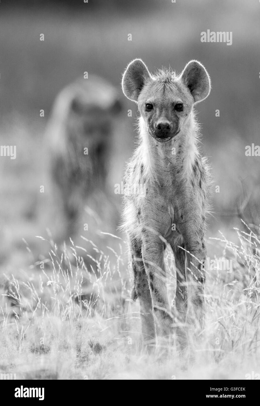
<svg viewBox="0 0 260 406"><path fill-rule="evenodd" d="M241 217L259 227L260 157L245 155L247 145L260 145L259 17L256 0L1 3L0 145L16 145L16 159L0 157L0 270L15 272L44 258L48 247L35 236L46 237L46 228L56 234L49 216L55 202L46 128L58 93L85 71L118 89L122 109L113 123L109 204L104 197L89 203L85 222L98 214L99 223L93 221L80 234L95 240L96 229L115 233L116 225L108 221L111 207L115 222L120 219L122 196L114 193L115 184L122 180L137 137L136 105L121 94L121 74L137 57L151 72L164 65L180 73L191 59L206 67L212 91L196 110L202 151L214 178L207 237L219 237L221 230L235 238L233 228L242 227ZM201 32L207 29L232 31L232 45L202 43ZM55 227L62 227L60 221ZM107 234L99 238L104 246L110 244ZM210 240L208 247L210 255L218 254Z"/></svg>

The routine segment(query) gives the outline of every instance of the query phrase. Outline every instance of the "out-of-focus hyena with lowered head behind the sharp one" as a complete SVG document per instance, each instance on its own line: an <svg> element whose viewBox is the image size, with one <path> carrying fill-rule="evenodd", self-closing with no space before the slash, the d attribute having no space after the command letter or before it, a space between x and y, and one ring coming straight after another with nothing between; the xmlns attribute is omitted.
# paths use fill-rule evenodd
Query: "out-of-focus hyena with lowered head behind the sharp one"
<svg viewBox="0 0 260 406"><path fill-rule="evenodd" d="M94 75L69 84L54 102L47 134L55 199L63 218L56 241L74 237L79 229L82 232L78 220L87 200L94 192L106 190L113 128L120 110L117 90Z"/></svg>

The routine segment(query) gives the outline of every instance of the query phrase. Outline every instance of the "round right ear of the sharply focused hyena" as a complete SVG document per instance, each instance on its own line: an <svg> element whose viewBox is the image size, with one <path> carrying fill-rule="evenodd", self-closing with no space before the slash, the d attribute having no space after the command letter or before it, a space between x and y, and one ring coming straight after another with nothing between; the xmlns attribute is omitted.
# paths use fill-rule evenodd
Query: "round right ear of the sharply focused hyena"
<svg viewBox="0 0 260 406"><path fill-rule="evenodd" d="M210 94L210 77L204 66L191 60L183 69L180 80L191 92L194 102L202 102Z"/></svg>

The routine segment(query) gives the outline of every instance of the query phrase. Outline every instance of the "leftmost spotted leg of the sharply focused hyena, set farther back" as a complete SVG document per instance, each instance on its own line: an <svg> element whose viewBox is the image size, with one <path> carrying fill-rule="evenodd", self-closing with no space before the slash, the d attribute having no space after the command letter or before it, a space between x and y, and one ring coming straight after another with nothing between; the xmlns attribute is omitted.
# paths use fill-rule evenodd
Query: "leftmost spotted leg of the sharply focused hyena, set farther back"
<svg viewBox="0 0 260 406"><path fill-rule="evenodd" d="M147 281L145 267L143 264L141 248L132 247L132 270L134 274L134 295L133 299L139 298L141 326L143 343L145 345L154 343L155 328L154 317L152 314L152 298Z"/></svg>

